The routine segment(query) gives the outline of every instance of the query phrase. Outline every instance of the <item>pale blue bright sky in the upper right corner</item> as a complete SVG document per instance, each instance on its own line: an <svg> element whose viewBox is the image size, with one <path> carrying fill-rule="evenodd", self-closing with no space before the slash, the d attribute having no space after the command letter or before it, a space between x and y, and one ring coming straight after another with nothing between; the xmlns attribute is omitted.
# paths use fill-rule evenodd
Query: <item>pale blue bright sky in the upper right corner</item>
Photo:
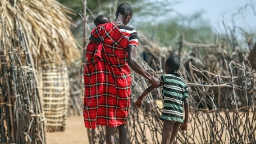
<svg viewBox="0 0 256 144"><path fill-rule="evenodd" d="M221 15L224 15L225 21L232 26L232 14L237 13L238 9L246 4L251 4L256 11L256 0L181 0L181 3L173 8L183 15L203 10L203 18L218 28L222 21ZM235 17L235 22L247 30L256 30L256 14L251 7L243 9L242 14Z"/></svg>

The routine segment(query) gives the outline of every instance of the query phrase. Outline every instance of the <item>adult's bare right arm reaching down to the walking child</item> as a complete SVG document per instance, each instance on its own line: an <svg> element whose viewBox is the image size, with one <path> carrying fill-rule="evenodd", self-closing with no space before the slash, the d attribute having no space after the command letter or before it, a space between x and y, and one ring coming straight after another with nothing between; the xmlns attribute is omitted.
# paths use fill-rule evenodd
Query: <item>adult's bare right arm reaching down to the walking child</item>
<svg viewBox="0 0 256 144"><path fill-rule="evenodd" d="M134 45L128 45L128 65L133 69L133 71L137 72L139 75L148 79L154 87L158 87L160 85L160 80L158 78L154 78L150 73L146 72L136 61L136 47Z"/></svg>

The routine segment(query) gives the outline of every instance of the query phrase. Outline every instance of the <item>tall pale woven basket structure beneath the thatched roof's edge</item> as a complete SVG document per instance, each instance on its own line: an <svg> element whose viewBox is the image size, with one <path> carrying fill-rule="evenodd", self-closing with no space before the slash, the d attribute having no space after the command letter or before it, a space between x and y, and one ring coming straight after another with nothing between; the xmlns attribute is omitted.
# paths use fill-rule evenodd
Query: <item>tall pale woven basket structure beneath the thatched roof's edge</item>
<svg viewBox="0 0 256 144"><path fill-rule="evenodd" d="M38 77L43 95L47 131L64 131L69 103L69 73L67 66L40 64Z"/></svg>

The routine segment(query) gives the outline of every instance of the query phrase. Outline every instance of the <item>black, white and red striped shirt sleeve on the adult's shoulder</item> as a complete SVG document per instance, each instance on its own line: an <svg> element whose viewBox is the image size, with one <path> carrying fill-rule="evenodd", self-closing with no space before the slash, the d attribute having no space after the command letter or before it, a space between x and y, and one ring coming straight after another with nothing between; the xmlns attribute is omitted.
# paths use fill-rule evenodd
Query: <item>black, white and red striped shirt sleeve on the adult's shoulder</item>
<svg viewBox="0 0 256 144"><path fill-rule="evenodd" d="M128 27L126 25L119 24L119 23L116 23L116 25L118 26L119 30L122 32L123 36L127 40L129 40L129 44L128 45L138 46L137 31L134 28Z"/></svg>

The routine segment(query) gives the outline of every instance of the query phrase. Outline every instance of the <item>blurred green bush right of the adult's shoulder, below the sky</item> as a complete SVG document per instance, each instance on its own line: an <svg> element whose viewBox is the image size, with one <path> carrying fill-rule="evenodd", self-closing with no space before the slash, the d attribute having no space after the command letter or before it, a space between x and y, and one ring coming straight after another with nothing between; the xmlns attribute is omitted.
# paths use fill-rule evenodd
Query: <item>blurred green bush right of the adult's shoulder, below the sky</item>
<svg viewBox="0 0 256 144"><path fill-rule="evenodd" d="M209 43L214 40L214 33L209 23L202 18L202 13L197 12L191 16L176 16L164 18L159 23L143 23L137 30L146 32L152 40L158 41L162 46L176 45L174 39L178 34L183 34L185 40L190 42Z"/></svg>

